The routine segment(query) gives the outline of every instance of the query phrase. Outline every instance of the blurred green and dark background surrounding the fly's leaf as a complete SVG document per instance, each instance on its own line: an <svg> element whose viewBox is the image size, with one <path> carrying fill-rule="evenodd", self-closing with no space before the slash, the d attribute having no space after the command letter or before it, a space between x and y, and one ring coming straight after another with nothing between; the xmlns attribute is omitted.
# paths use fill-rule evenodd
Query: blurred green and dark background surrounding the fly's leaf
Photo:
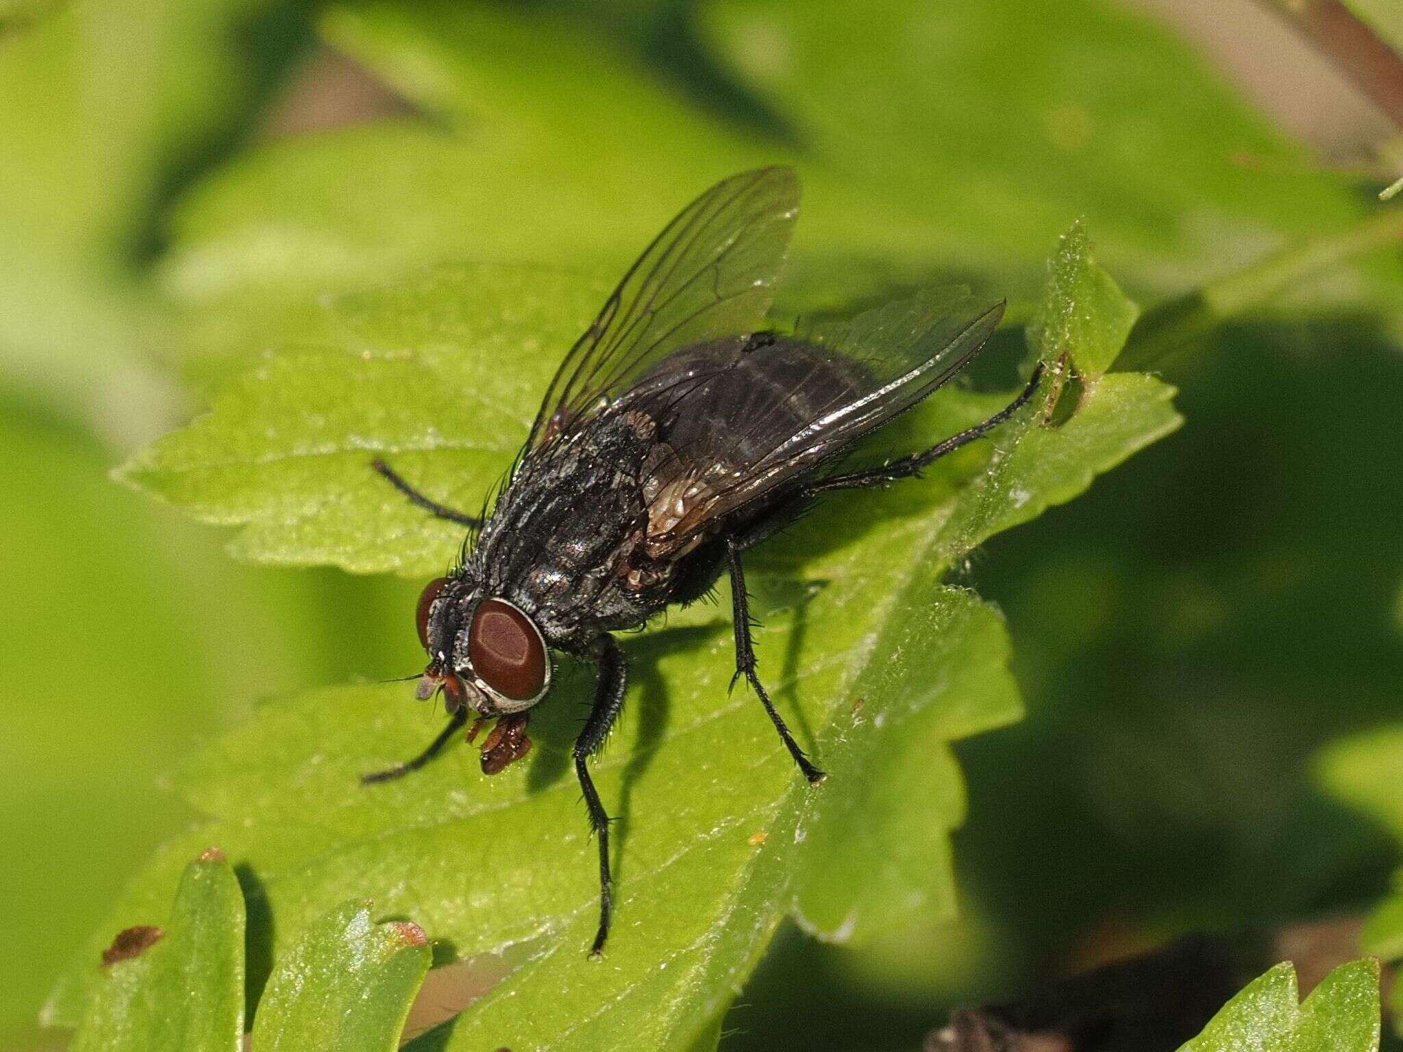
<svg viewBox="0 0 1403 1052"><path fill-rule="evenodd" d="M415 582L236 562L114 464L314 344L327 293L616 267L755 163L805 180L794 310L953 275L1026 317L1078 216L1145 306L1369 223L1383 115L1208 10L0 0L0 1046L62 1044L38 1006L188 821L184 752L418 659ZM1222 318L1157 363L1183 431L972 560L1028 718L960 749L965 919L788 933L724 1048L915 1048L954 1002L1383 895L1395 842L1309 762L1403 718L1400 275L1385 247Z"/></svg>

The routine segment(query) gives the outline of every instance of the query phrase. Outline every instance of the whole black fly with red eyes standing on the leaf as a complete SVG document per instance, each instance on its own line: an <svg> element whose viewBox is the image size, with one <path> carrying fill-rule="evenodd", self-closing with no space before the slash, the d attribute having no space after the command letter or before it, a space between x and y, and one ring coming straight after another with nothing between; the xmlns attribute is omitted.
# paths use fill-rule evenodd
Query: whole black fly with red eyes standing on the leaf
<svg viewBox="0 0 1403 1052"><path fill-rule="evenodd" d="M866 471L832 466L861 436L958 373L993 332L1003 304L920 299L859 317L838 341L763 331L798 212L790 168L717 184L648 245L565 355L491 513L463 515L375 468L432 515L471 530L463 565L418 605L429 663L421 699L442 690L449 725L427 763L476 713L492 774L530 749L526 720L550 692L550 651L595 662L593 708L575 741L575 774L599 839L599 933L609 934L609 819L589 777L623 707L627 665L610 633L731 576L735 679L745 676L800 771L824 773L794 742L756 675L742 553L819 494L881 485L978 439L1037 387L1041 366L1005 410L930 449ZM476 735L478 724L474 724Z"/></svg>

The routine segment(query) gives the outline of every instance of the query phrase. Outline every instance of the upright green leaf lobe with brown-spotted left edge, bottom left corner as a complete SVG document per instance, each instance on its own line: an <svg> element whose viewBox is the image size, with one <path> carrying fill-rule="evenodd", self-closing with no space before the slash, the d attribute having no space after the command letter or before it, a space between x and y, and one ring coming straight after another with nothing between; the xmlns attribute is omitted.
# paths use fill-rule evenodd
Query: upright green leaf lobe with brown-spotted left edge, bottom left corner
<svg viewBox="0 0 1403 1052"><path fill-rule="evenodd" d="M146 931L137 947L154 936ZM223 854L209 850L185 867L163 931L154 945L94 976L73 1052L243 1048L244 898ZM119 937L112 951L122 948Z"/></svg>

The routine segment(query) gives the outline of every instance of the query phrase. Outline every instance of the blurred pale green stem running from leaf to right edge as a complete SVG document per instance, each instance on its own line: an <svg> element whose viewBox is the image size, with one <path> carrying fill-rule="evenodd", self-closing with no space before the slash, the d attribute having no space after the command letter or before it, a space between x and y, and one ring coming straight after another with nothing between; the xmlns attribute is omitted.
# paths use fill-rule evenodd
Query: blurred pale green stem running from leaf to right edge
<svg viewBox="0 0 1403 1052"><path fill-rule="evenodd" d="M1403 241L1403 208L1376 212L1362 223L1317 241L1287 248L1250 267L1148 310L1131 332L1115 367L1145 370L1184 349L1226 318L1264 303L1345 259Z"/></svg>

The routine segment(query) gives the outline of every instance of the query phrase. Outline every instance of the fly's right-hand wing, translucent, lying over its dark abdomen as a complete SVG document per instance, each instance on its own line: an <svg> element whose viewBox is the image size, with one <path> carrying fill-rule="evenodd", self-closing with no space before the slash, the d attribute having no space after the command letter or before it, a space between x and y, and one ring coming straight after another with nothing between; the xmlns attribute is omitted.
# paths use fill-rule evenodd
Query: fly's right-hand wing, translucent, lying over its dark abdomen
<svg viewBox="0 0 1403 1052"><path fill-rule="evenodd" d="M687 551L717 520L909 410L958 373L1002 317L1002 302L929 290L826 331L659 362L626 400L661 438L643 480L648 553Z"/></svg>

